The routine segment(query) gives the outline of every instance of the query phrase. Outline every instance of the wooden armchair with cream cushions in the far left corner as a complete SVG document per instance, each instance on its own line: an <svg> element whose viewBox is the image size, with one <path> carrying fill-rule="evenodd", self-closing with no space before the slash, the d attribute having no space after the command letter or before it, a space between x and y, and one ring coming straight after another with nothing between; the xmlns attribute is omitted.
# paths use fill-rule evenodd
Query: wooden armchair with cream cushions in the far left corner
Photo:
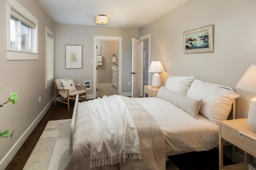
<svg viewBox="0 0 256 170"><path fill-rule="evenodd" d="M59 78L55 79L54 81L55 86L55 92L54 92L54 105L56 105L57 102L61 102L64 104L68 104L69 107L69 100L72 98L76 98L76 95L78 94L79 98L84 99L86 101L86 86L76 86L74 84L74 81L72 78ZM78 88L84 88L84 90L76 90L76 87ZM62 101L58 100L57 98L62 96L63 98L66 98L68 101ZM84 96L84 97L82 97Z"/></svg>

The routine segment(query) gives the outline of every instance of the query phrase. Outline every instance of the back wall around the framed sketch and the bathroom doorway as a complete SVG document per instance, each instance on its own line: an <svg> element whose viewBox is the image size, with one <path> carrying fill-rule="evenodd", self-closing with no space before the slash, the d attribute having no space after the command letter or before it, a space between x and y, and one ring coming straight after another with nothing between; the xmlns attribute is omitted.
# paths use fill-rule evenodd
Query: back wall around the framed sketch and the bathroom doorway
<svg viewBox="0 0 256 170"><path fill-rule="evenodd" d="M122 37L122 93L131 92L128 81L132 78L132 38L138 39L138 29L54 23L54 77L72 77L80 84L91 80L93 89L93 63L90 60L94 60L94 35ZM82 69L65 69L65 45L82 45ZM93 90L88 90L87 94L93 94Z"/></svg>

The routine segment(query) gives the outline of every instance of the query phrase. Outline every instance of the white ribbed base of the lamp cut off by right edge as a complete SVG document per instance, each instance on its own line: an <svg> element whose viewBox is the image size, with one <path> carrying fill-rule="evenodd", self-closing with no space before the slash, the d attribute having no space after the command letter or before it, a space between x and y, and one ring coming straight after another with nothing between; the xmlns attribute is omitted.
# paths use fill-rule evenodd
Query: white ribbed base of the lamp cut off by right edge
<svg viewBox="0 0 256 170"><path fill-rule="evenodd" d="M250 101L247 121L252 130L256 132L256 97Z"/></svg>

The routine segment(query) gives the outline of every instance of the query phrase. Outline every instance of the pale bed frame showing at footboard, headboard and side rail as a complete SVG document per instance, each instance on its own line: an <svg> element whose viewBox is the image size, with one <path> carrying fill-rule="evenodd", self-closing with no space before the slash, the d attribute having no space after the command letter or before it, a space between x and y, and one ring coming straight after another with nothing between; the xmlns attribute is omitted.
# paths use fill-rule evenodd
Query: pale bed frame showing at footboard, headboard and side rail
<svg viewBox="0 0 256 170"><path fill-rule="evenodd" d="M209 83L209 84L213 84L213 83ZM234 92L234 89L228 86L222 86L219 84L213 84L216 86L219 86L221 88L226 88L228 90L231 90L232 92ZM77 107L78 107L78 95L76 95L76 101L75 101L75 105L74 105L74 110L73 110L73 115L72 115L72 121L71 121L71 129L70 129L70 143L69 143L69 151L70 154L73 151L73 143L74 143L74 130L75 130L75 123L76 123L76 112L77 112ZM232 119L236 119L236 100L234 100L233 104L232 104ZM181 154L181 153L185 153L185 152L171 152L171 153L166 153L166 156L170 156L170 155L174 155L174 154ZM233 152L232 152L232 159L234 159L234 147L233 147Z"/></svg>

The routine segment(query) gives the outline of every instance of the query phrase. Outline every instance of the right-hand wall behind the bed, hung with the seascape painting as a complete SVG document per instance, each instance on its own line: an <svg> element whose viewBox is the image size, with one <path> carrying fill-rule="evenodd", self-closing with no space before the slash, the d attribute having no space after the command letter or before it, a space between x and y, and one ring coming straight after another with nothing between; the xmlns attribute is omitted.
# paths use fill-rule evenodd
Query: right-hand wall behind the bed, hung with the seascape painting
<svg viewBox="0 0 256 170"><path fill-rule="evenodd" d="M172 12L139 29L151 35L151 60L160 60L166 78L196 76L206 82L230 86L241 95L237 118L247 117L256 94L235 88L250 64L256 63L255 0L189 0ZM183 32L214 25L214 53L184 54ZM152 78L152 75L150 76Z"/></svg>

